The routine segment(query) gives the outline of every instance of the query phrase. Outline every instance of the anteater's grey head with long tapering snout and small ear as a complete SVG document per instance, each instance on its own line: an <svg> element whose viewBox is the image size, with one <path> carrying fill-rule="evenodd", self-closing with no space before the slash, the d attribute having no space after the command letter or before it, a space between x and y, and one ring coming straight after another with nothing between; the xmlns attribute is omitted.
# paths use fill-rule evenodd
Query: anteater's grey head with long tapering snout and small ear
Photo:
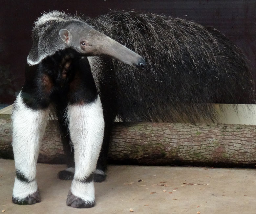
<svg viewBox="0 0 256 214"><path fill-rule="evenodd" d="M85 22L71 22L59 31L60 38L67 47L74 48L86 56L107 55L143 70L145 60L110 37L100 33Z"/></svg>

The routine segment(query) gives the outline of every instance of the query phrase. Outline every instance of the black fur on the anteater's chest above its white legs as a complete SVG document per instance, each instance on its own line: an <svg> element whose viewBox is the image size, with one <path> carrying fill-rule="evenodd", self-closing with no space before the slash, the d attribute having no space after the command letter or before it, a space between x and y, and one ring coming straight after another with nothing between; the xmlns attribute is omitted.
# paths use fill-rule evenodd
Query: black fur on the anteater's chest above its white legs
<svg viewBox="0 0 256 214"><path fill-rule="evenodd" d="M87 57L72 49L58 51L37 65L27 66L25 75L22 97L33 109L47 108L51 103L90 103L97 96Z"/></svg>

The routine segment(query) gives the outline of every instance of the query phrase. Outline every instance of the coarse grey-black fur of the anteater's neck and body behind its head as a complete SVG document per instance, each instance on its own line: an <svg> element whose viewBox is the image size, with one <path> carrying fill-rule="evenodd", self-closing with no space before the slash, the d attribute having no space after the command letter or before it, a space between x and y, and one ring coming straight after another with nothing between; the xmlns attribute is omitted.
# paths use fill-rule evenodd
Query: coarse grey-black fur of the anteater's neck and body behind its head
<svg viewBox="0 0 256 214"><path fill-rule="evenodd" d="M90 19L53 11L35 23L28 60L65 48L59 29L77 20L147 62L138 72L115 59L89 57L103 107L114 106L122 121L214 121L210 103L254 103L254 82L241 50L216 29L179 18L111 11Z"/></svg>

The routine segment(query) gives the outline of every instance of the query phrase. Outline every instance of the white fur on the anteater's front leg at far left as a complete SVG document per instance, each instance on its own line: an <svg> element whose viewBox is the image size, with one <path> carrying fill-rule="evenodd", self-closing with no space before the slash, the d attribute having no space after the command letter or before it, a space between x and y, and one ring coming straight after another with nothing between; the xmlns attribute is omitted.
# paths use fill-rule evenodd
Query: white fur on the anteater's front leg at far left
<svg viewBox="0 0 256 214"><path fill-rule="evenodd" d="M19 93L14 106L11 117L15 168L30 181L30 183L26 183L15 178L13 197L22 200L37 190L36 162L49 111L48 109L32 110L27 107L22 102L21 93Z"/></svg>

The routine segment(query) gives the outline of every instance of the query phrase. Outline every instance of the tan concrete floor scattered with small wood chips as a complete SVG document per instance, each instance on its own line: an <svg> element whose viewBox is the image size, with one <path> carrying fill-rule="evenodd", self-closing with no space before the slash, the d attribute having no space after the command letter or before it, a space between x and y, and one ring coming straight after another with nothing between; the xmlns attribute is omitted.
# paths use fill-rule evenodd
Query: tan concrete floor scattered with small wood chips
<svg viewBox="0 0 256 214"><path fill-rule="evenodd" d="M0 159L0 212L123 214L132 208L141 214L256 213L254 169L109 166L107 180L95 183L96 206L89 209L66 206L71 181L57 179L62 169L64 165L38 164L41 202L21 206L11 202L14 161Z"/></svg>

